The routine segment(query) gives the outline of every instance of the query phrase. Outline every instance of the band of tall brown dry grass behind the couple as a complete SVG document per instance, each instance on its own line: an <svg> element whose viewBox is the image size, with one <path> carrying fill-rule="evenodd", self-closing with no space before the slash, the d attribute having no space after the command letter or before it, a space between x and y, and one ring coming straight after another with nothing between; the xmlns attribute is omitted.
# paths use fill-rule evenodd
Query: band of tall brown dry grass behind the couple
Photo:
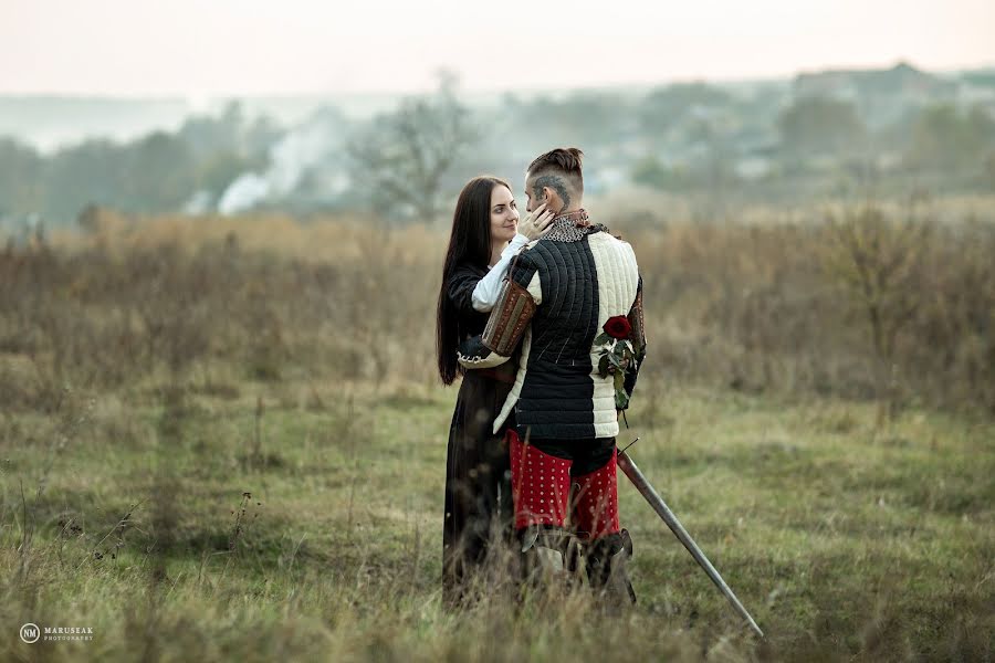
<svg viewBox="0 0 995 663"><path fill-rule="evenodd" d="M614 224L646 280L647 370L995 412L995 222L943 223L944 210ZM870 225L853 235L865 244L840 231ZM917 228L928 232L905 245ZM187 369L230 392L243 377L430 383L444 242L440 229L370 220L106 213L86 236L0 254L0 396L30 408L65 381L134 389ZM900 277L896 256L914 257Z"/></svg>

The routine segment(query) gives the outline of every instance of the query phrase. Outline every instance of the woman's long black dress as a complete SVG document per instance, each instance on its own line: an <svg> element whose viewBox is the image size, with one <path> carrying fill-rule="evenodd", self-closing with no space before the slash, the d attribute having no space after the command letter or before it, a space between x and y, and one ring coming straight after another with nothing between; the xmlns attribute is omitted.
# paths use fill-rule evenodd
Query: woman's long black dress
<svg viewBox="0 0 995 663"><path fill-rule="evenodd" d="M475 311L471 295L483 270L458 267L447 288L460 316L461 340L482 334L489 314ZM449 427L446 462L446 511L442 530L442 593L447 603L463 597L465 582L488 560L489 547L514 536L511 465L504 433L514 425L509 417L498 434L494 419L514 381L516 362L492 370L468 370L457 396Z"/></svg>

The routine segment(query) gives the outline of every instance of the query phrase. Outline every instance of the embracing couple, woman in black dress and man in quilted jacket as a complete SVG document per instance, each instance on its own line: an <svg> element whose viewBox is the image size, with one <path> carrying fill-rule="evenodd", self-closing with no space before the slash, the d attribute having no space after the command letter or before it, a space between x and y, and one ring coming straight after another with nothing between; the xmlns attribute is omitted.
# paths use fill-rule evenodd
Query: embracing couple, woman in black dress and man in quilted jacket
<svg viewBox="0 0 995 663"><path fill-rule="evenodd" d="M499 548L514 550L521 580L583 569L597 596L635 602L615 438L646 355L642 280L632 248L582 207L582 158L557 148L532 161L524 220L499 178L471 180L457 202L437 319L442 381L462 376L446 474L450 606Z"/></svg>

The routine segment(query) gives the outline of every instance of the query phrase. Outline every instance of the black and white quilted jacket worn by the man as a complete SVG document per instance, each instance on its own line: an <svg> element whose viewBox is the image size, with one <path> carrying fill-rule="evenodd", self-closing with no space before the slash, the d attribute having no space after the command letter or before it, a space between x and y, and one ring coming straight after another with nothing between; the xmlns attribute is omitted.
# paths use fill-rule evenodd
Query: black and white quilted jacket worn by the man
<svg viewBox="0 0 995 663"><path fill-rule="evenodd" d="M523 438L617 435L615 385L598 373L594 346L614 316L629 318L641 365L642 281L632 248L588 224L583 210L561 217L512 263L483 336L460 347L463 366L485 368L506 361L521 343L515 383L494 430L514 408ZM630 394L635 382L633 370L625 383Z"/></svg>

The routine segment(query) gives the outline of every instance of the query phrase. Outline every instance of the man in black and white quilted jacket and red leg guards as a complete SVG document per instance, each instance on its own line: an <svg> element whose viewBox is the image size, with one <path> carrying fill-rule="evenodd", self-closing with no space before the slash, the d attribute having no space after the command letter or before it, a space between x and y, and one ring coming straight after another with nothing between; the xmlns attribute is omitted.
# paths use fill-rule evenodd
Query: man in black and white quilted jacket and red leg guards
<svg viewBox="0 0 995 663"><path fill-rule="evenodd" d="M521 343L515 383L494 430L514 408L509 444L523 551L533 561L569 564L562 541L572 507L589 583L625 602L635 593L625 575L631 544L619 528L615 436L646 355L642 280L632 248L580 207L582 158L579 149L558 148L528 166L526 209L555 210L553 228L515 257L483 336L461 346L460 362L496 366ZM629 343L635 357L622 366L605 358L615 343L603 334L609 319L628 330L617 343Z"/></svg>

